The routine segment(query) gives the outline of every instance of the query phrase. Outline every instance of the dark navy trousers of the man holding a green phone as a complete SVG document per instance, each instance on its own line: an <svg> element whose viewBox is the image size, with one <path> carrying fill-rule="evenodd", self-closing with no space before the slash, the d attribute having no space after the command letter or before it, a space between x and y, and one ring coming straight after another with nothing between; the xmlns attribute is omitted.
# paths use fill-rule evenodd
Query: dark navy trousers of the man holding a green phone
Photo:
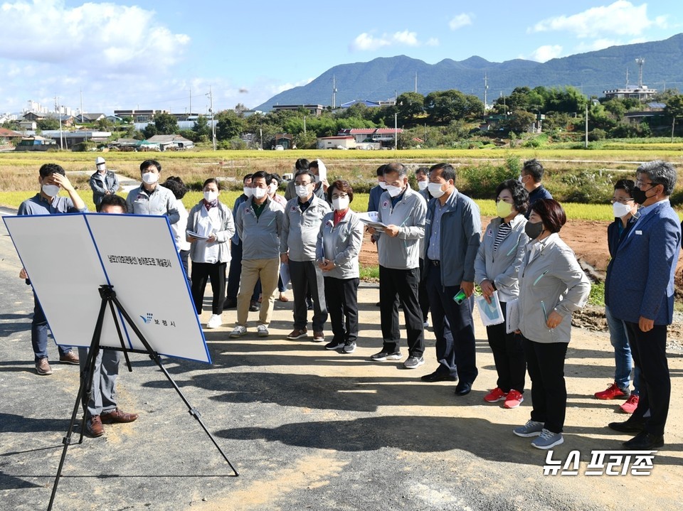
<svg viewBox="0 0 683 511"><path fill-rule="evenodd" d="M441 268L434 266L428 259L425 266L436 335L437 372L460 377L460 382L472 384L479 374L472 300L465 300L460 305L455 303L453 296L460 291L460 286L442 286Z"/></svg>

